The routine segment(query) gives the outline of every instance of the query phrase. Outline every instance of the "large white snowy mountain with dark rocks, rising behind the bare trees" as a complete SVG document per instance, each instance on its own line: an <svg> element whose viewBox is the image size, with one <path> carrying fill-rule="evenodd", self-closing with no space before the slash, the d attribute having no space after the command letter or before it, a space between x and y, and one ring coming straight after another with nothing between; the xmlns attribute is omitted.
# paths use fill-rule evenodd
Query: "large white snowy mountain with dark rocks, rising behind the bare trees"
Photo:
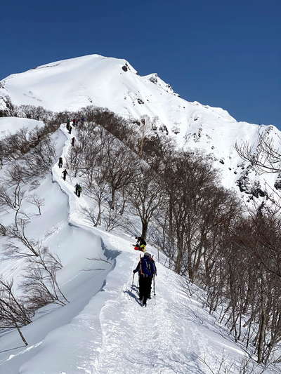
<svg viewBox="0 0 281 374"><path fill-rule="evenodd" d="M251 192L259 184L264 190L266 182L273 187L276 179L276 175L256 175L234 149L235 142L242 140L256 145L259 126L237 122L221 108L183 100L157 74L140 76L126 60L86 55L51 62L0 81L2 106L1 97L6 95L15 105L41 105L53 111L96 105L126 117L156 116L158 131L164 124L178 147L211 154L223 185L238 193L238 180ZM280 136L274 126L263 126L263 131Z"/></svg>

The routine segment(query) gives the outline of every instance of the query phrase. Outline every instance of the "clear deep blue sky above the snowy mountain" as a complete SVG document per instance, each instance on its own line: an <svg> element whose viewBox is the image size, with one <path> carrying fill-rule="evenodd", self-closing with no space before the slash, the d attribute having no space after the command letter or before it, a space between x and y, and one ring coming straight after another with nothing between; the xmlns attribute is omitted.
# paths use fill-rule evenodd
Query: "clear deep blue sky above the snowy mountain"
<svg viewBox="0 0 281 374"><path fill-rule="evenodd" d="M181 97L281 127L281 0L1 1L0 79L98 53Z"/></svg>

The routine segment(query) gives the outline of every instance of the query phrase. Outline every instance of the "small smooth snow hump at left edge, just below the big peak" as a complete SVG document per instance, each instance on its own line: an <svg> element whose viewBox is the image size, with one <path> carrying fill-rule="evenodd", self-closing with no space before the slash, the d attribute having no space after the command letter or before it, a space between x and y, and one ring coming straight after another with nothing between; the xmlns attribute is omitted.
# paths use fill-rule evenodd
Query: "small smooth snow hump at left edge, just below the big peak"
<svg viewBox="0 0 281 374"><path fill-rule="evenodd" d="M28 131L35 127L43 127L42 121L35 119L18 118L18 117L0 117L0 140L8 135L13 135L21 128L27 128Z"/></svg>

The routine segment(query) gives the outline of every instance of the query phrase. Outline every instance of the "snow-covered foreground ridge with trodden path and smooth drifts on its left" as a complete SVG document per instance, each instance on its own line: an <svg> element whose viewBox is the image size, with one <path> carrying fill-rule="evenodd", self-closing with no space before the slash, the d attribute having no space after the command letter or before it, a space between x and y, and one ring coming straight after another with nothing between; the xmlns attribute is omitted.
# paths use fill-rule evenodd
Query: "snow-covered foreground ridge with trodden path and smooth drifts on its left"
<svg viewBox="0 0 281 374"><path fill-rule="evenodd" d="M65 126L53 135L63 158L72 136ZM46 199L42 214L24 208L32 215L27 234L41 239L63 262L58 281L70 303L37 312L22 328L28 347L22 347L16 331L0 335L0 373L209 374L200 358L216 370L222 357L239 365L243 349L202 307L199 289L189 285L194 293L190 296L184 279L158 261L156 298L141 307L137 276L132 287L132 270L139 260L133 238L94 228L81 214L89 201L74 194L76 180L64 181L61 171L55 164L35 189ZM6 212L0 216L9 220ZM1 237L0 258L3 248ZM154 248L148 246L148 251L158 260ZM5 277L20 277L23 269L22 260L0 262Z"/></svg>

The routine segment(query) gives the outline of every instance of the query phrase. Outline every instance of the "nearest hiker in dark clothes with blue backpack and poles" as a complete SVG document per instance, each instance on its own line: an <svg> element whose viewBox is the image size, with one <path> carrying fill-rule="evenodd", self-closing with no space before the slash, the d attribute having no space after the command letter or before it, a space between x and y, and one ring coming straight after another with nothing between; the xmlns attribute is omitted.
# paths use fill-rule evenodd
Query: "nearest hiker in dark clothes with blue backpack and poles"
<svg viewBox="0 0 281 374"><path fill-rule="evenodd" d="M146 307L146 300L150 299L151 296L151 283L152 278L157 275L157 269L155 262L151 257L150 253L145 252L138 262L138 266L133 270L133 274L138 272L139 279L139 300L143 307Z"/></svg>

